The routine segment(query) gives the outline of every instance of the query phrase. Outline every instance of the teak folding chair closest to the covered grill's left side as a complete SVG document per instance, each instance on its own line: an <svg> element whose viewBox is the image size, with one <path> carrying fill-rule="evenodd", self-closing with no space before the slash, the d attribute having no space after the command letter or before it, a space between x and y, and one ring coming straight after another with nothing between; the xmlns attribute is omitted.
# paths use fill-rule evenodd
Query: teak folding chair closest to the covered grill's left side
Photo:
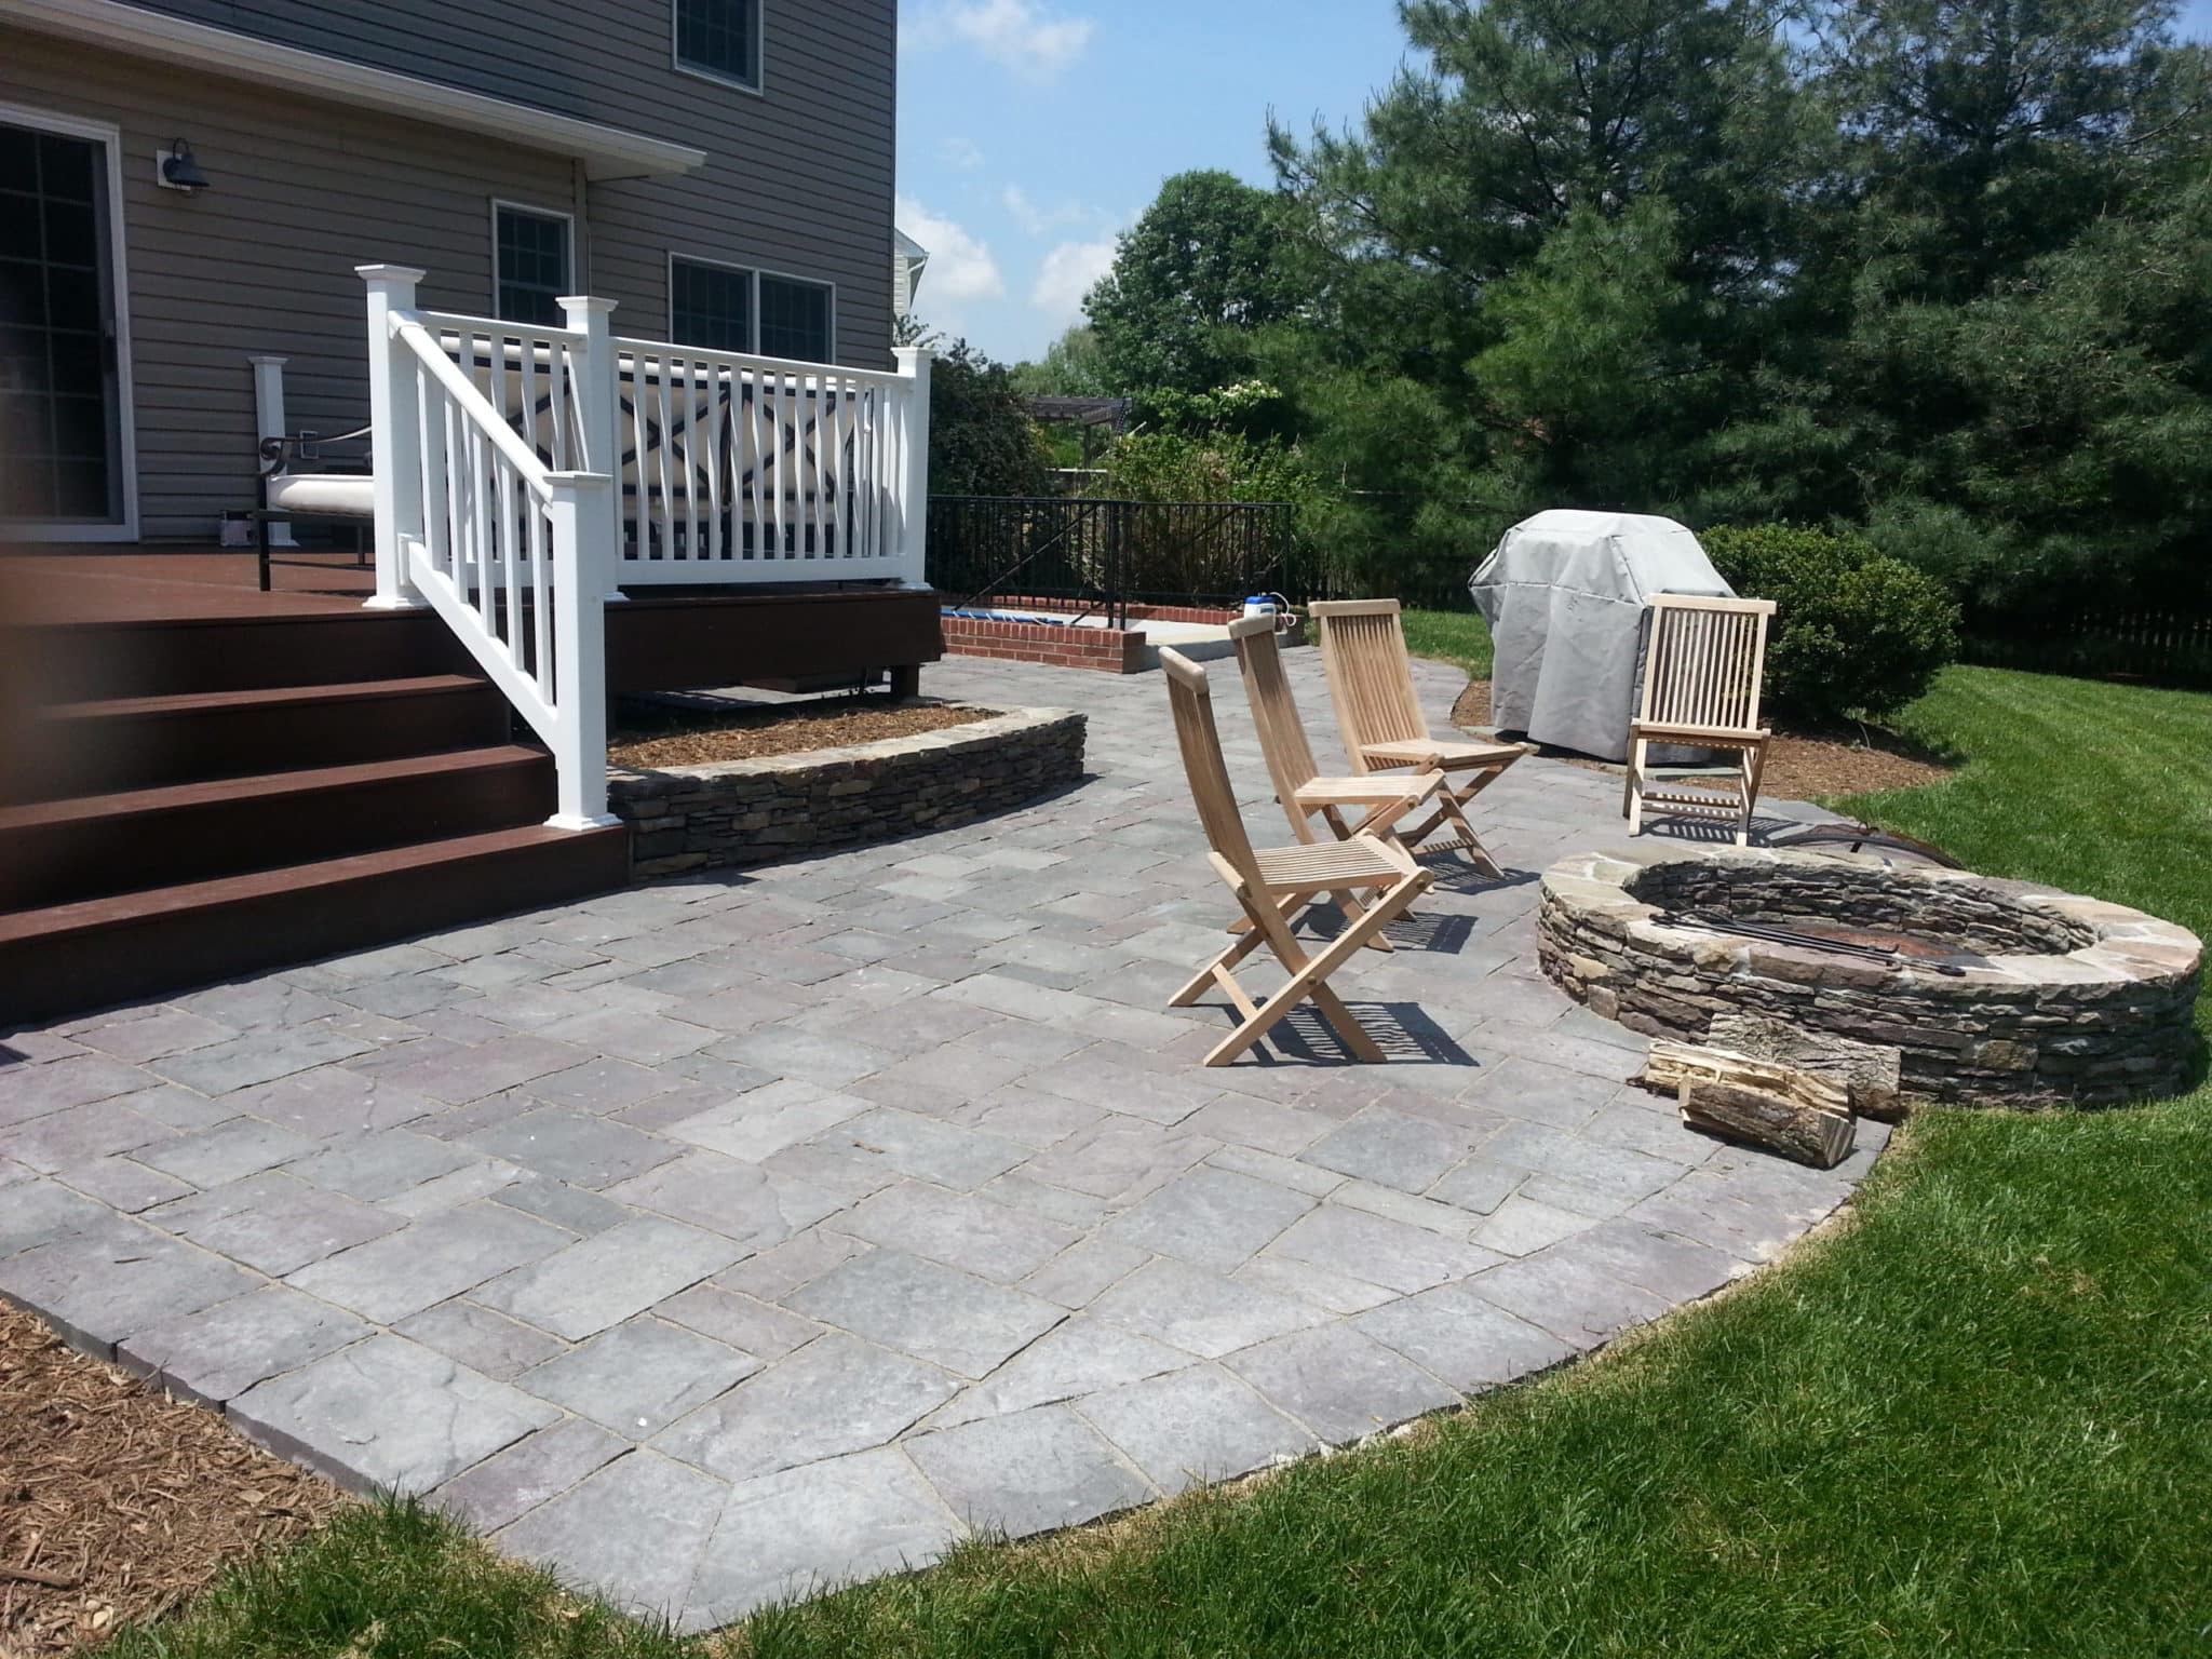
<svg viewBox="0 0 2212 1659"><path fill-rule="evenodd" d="M1504 770L1528 752L1526 743L1491 743L1473 737L1429 737L1429 717L1413 690L1413 664L1405 650L1405 626L1396 599L1323 599L1310 606L1321 628L1321 666L1336 703L1336 730L1354 772L1464 772L1467 783L1447 783L1431 812L1400 841L1416 852L1464 849L1486 876L1506 872L1491 858L1467 803L1491 787ZM1431 843L1444 825L1447 841Z"/></svg>

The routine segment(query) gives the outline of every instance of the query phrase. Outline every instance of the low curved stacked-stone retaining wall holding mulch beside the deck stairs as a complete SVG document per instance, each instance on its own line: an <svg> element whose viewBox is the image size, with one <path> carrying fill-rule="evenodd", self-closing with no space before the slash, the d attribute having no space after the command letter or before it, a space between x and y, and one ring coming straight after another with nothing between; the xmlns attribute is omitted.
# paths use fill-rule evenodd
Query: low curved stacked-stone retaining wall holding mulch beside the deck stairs
<svg viewBox="0 0 2212 1659"><path fill-rule="evenodd" d="M630 872L670 876L947 830L1082 776L1082 714L987 712L969 726L836 750L670 772L615 770L608 810L630 825Z"/></svg>

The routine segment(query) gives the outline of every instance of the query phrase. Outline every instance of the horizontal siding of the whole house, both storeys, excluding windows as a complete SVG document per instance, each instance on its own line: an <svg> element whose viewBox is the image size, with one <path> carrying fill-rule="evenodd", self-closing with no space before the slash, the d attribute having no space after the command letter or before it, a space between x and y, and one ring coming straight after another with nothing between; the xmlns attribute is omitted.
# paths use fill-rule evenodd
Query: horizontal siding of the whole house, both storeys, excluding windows
<svg viewBox="0 0 2212 1659"><path fill-rule="evenodd" d="M288 46L697 146L679 177L586 181L502 144L0 27L0 104L122 128L139 531L206 540L252 504L252 354L283 354L292 429L367 418L361 263L429 272L489 314L491 201L573 212L615 330L668 330L668 257L834 283L836 361L889 365L896 0L763 0L763 91L679 73L668 0L168 0ZM588 22L582 22L586 20ZM212 179L155 184L186 137Z"/></svg>

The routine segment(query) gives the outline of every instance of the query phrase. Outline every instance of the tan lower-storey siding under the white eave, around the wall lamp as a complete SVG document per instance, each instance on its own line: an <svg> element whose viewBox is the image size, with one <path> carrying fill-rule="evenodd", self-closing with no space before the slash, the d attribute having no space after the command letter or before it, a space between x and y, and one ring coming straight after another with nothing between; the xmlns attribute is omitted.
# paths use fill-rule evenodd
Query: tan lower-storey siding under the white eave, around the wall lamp
<svg viewBox="0 0 2212 1659"><path fill-rule="evenodd" d="M420 122L314 104L139 58L0 29L0 104L122 128L131 422L139 533L208 540L254 500L248 356L285 365L294 429L367 420L354 265L422 265L422 303L482 312L491 197L566 206L575 164ZM192 144L212 188L155 184L155 153Z"/></svg>

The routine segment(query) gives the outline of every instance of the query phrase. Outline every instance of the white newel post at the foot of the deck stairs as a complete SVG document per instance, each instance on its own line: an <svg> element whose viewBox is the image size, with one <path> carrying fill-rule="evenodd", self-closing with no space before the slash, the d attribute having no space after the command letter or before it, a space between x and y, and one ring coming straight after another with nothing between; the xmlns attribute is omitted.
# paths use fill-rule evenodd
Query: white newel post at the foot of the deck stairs
<svg viewBox="0 0 2212 1659"><path fill-rule="evenodd" d="M606 451L599 451L606 453ZM555 830L615 823L606 812L606 473L553 473L553 710L560 772Z"/></svg>

